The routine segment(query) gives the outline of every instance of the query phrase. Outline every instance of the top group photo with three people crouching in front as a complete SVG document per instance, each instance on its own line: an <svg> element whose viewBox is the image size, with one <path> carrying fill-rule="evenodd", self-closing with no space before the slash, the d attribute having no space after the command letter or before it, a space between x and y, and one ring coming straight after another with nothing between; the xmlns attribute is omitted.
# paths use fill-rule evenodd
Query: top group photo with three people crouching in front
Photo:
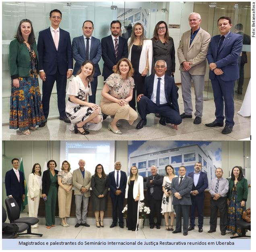
<svg viewBox="0 0 256 252"><path fill-rule="evenodd" d="M251 2L2 2L2 140L250 140Z"/></svg>

